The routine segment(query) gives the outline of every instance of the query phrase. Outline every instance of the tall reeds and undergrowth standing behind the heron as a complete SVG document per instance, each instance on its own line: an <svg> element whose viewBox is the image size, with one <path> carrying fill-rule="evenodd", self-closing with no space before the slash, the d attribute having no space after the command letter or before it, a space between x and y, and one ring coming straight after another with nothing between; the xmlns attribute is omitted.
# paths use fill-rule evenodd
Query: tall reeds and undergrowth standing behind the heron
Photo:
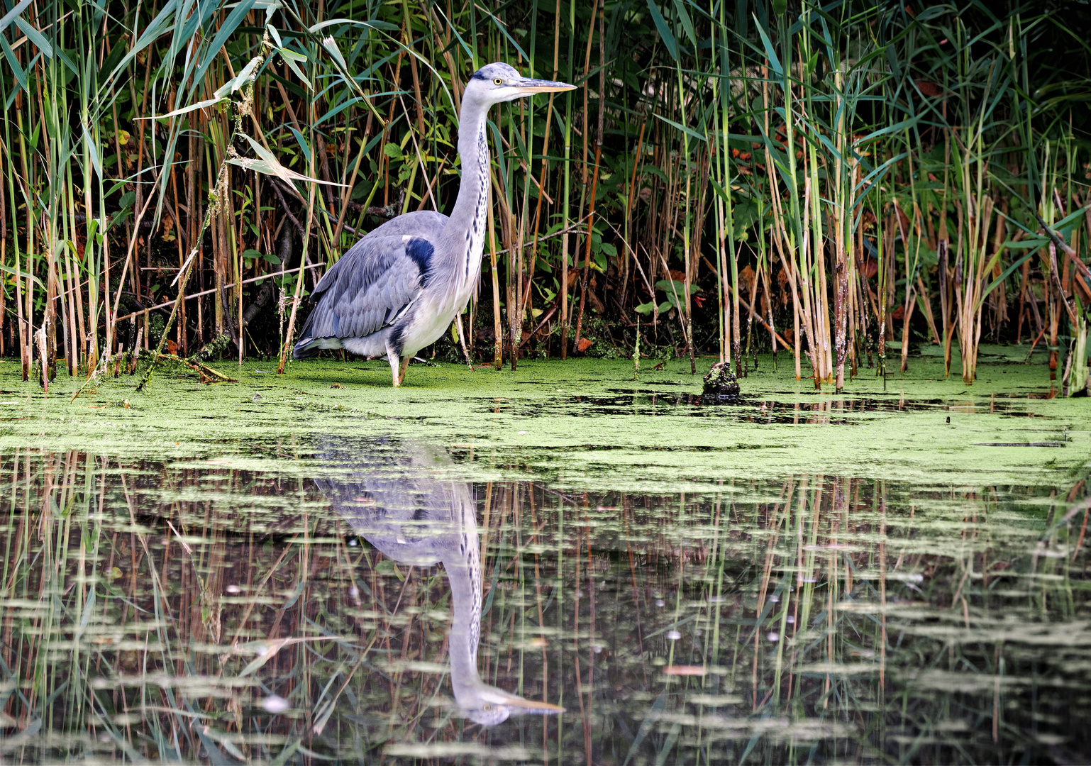
<svg viewBox="0 0 1091 766"><path fill-rule="evenodd" d="M972 383L991 339L1080 393L1089 33L1015 0L8 0L0 350L283 370L328 264L452 204L502 60L582 87L493 112L473 358L764 350L841 388L913 344Z"/></svg>

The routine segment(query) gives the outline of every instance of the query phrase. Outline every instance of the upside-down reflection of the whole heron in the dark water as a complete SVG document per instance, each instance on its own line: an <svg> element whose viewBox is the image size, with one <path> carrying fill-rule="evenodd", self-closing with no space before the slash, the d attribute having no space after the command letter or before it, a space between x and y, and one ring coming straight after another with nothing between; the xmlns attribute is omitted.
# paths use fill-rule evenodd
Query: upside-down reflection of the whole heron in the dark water
<svg viewBox="0 0 1091 766"><path fill-rule="evenodd" d="M358 450L323 451L338 466L358 466L337 479L314 483L334 510L384 555L403 564L443 562L451 585L448 654L451 685L459 709L477 723L494 726L508 716L563 713L544 702L490 686L477 669L481 637L481 555L477 506L469 484L444 480L436 469L449 464L445 452L413 442L361 442Z"/></svg>

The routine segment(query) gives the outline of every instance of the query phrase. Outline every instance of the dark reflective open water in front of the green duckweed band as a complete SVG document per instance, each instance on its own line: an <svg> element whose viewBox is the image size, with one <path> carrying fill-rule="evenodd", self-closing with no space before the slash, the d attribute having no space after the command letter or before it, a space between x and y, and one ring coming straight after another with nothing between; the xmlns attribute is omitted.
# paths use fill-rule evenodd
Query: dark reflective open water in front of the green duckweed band
<svg viewBox="0 0 1091 766"><path fill-rule="evenodd" d="M1091 755L1083 481L561 493L443 445L302 457L4 455L0 759Z"/></svg>

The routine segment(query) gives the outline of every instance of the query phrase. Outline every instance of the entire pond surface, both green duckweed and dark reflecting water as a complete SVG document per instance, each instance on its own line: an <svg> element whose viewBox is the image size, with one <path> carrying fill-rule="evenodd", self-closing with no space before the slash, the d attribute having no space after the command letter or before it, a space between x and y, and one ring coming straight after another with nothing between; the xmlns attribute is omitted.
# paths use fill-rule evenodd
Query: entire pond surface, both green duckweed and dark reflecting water
<svg viewBox="0 0 1091 766"><path fill-rule="evenodd" d="M625 364L0 370L0 762L1091 756L1086 404Z"/></svg>

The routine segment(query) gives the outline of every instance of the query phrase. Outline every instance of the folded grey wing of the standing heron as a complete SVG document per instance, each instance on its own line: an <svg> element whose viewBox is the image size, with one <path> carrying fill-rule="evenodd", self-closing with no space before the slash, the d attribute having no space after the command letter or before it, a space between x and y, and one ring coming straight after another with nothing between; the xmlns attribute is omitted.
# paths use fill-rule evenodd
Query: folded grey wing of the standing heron
<svg viewBox="0 0 1091 766"><path fill-rule="evenodd" d="M364 237L319 280L300 337L361 338L393 324L427 284L432 253L420 236Z"/></svg>

